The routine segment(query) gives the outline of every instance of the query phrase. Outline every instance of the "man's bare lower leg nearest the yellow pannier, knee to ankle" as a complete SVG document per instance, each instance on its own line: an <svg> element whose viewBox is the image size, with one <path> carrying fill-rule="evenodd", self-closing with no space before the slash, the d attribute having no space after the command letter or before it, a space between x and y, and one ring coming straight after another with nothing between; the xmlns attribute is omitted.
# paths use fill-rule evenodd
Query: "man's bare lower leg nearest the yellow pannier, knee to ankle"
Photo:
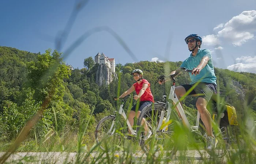
<svg viewBox="0 0 256 164"><path fill-rule="evenodd" d="M207 131L207 136L214 137L212 133L212 126L211 126L211 114L207 110L207 101L203 97L199 97L196 101L196 108L199 110L201 119L204 123L204 126Z"/></svg>

